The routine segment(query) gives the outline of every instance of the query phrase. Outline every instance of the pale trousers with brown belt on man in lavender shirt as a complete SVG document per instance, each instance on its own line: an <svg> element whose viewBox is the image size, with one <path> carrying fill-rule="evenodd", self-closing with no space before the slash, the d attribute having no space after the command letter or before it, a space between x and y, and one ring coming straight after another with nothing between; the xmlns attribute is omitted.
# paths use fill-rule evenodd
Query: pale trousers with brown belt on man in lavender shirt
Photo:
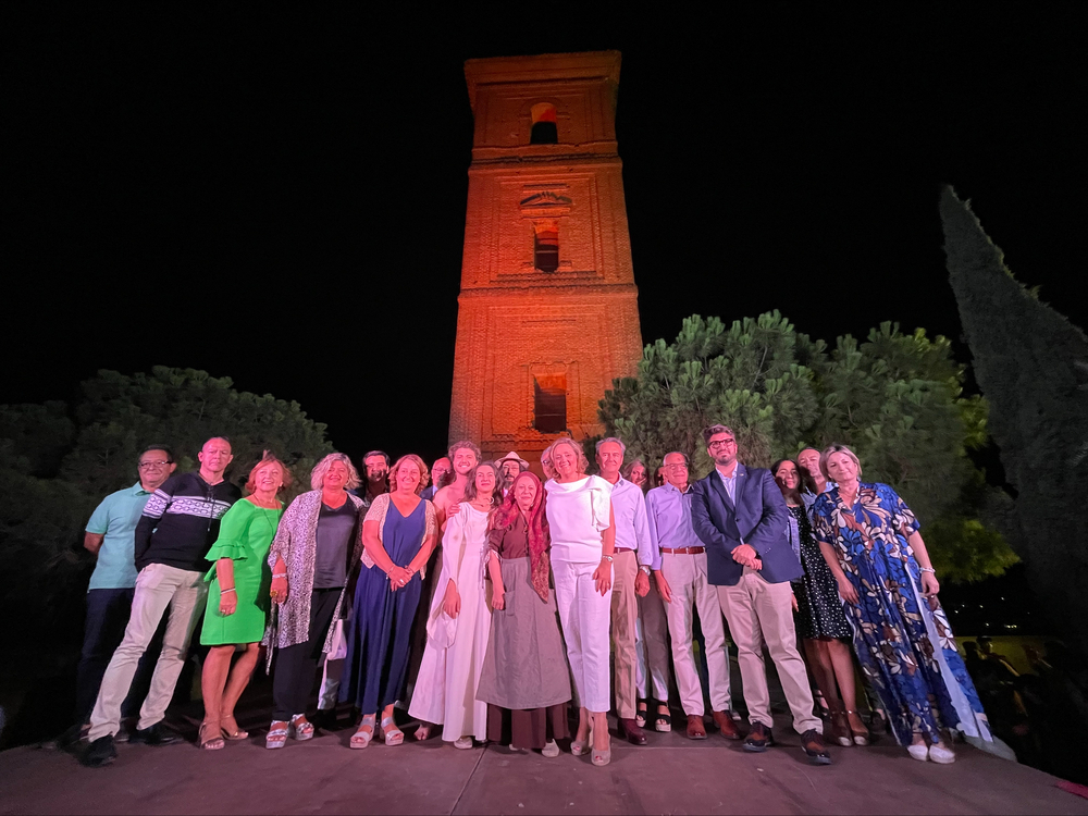
<svg viewBox="0 0 1088 816"><path fill-rule="evenodd" d="M728 712L729 654L726 652L726 629L715 588L706 582L706 553L680 555L662 553L662 574L669 583L672 601L665 605L672 635L672 667L684 714L702 716L703 687L695 667L692 647L692 607L698 609L698 623L706 644L706 672L710 681L710 707Z"/></svg>

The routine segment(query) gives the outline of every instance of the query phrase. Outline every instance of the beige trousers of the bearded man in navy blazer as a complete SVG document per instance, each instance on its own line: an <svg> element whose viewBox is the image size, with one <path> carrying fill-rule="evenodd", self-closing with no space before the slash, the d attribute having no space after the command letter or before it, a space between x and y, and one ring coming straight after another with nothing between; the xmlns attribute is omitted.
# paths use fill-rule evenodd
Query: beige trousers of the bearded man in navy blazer
<svg viewBox="0 0 1088 816"><path fill-rule="evenodd" d="M768 583L758 572L745 567L735 586L718 586L717 590L721 611L729 621L729 634L737 644L749 722L762 722L768 728L775 725L770 716L767 666L763 659L766 642L793 713L793 727L798 733L809 729L823 733L824 724L813 716L805 662L798 653L791 603L793 589L789 581Z"/></svg>

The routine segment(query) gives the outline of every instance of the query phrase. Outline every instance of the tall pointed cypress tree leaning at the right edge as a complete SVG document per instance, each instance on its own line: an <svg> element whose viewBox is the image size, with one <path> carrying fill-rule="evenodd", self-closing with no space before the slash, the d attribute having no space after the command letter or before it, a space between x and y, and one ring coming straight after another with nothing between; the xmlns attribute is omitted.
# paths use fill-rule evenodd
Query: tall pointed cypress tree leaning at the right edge
<svg viewBox="0 0 1088 816"><path fill-rule="evenodd" d="M1088 337L1018 283L968 202L940 203L949 277L1015 517L1006 536L1066 644L1088 655ZM999 517L1000 520L1000 517Z"/></svg>

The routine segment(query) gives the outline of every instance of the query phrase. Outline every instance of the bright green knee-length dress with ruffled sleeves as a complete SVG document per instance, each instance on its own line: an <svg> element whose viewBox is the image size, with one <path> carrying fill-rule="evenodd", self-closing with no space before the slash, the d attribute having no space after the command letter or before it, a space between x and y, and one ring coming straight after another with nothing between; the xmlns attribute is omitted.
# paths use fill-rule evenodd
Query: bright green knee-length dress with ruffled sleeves
<svg viewBox="0 0 1088 816"><path fill-rule="evenodd" d="M208 606L205 609L200 643L221 646L228 643L258 643L264 636L271 601L272 568L268 565L269 549L283 508L268 510L252 502L235 502L223 516L219 539L205 556L212 562L205 576L208 586ZM219 610L219 577L215 561L230 558L234 561L234 586L238 593L238 608L233 615Z"/></svg>

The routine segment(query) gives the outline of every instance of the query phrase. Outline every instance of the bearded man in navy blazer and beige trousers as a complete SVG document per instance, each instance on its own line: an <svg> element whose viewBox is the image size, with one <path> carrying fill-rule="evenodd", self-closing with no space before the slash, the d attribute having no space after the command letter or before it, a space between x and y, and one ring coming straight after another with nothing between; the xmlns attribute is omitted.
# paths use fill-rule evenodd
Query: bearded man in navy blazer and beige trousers
<svg viewBox="0 0 1088 816"><path fill-rule="evenodd" d="M766 643L802 749L814 765L830 765L793 627L796 599L790 581L804 571L790 545L790 511L769 470L737 461L737 438L729 428L710 425L703 438L714 470L692 487L691 518L706 545L707 581L717 588L718 605L737 644L751 725L744 749L763 752L774 744Z"/></svg>

